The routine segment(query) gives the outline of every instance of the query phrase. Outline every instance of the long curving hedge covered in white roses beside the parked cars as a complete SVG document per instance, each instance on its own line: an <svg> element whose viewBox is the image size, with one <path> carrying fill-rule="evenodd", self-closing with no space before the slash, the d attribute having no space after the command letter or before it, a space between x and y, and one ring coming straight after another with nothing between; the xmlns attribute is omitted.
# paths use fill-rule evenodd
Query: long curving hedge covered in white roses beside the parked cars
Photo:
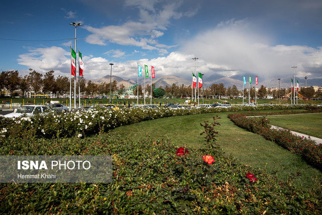
<svg viewBox="0 0 322 215"><path fill-rule="evenodd" d="M309 106L307 106L309 107ZM0 138L20 134L22 136L36 136L44 138L53 137L84 137L91 134L107 131L111 128L132 124L144 120L180 116L200 113L236 112L253 110L287 110L305 109L306 106L258 106L245 107L233 106L231 108L194 108L194 109L141 109L123 108L112 109L90 109L68 113L48 112L45 115L32 117L22 116L16 119L0 117ZM322 111L322 109L320 109Z"/></svg>

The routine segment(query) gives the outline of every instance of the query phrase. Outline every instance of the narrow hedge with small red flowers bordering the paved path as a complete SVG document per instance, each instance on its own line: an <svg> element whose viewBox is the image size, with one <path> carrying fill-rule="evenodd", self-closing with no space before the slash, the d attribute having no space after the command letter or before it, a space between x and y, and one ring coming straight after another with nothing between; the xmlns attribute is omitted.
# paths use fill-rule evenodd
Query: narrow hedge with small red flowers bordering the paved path
<svg viewBox="0 0 322 215"><path fill-rule="evenodd" d="M244 114L234 113L228 114L228 118L237 126L276 142L285 149L300 155L312 166L322 170L322 144L316 145L314 140L294 135L287 129L273 129L265 117L247 118Z"/></svg>

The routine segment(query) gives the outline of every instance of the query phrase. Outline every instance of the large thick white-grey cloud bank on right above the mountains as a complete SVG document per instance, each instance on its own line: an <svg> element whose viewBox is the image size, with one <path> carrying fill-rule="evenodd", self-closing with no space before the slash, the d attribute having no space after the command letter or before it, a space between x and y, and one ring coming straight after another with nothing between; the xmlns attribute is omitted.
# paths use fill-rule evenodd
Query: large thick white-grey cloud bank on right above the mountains
<svg viewBox="0 0 322 215"><path fill-rule="evenodd" d="M262 80L269 80L291 77L291 65L296 64L298 77L304 77L306 71L315 78L322 78L321 48L271 43L270 38L260 33L249 21L229 20L185 41L181 51L193 53L206 63L225 68L222 71L203 70L205 74L257 74ZM231 72L227 73L226 70Z"/></svg>

